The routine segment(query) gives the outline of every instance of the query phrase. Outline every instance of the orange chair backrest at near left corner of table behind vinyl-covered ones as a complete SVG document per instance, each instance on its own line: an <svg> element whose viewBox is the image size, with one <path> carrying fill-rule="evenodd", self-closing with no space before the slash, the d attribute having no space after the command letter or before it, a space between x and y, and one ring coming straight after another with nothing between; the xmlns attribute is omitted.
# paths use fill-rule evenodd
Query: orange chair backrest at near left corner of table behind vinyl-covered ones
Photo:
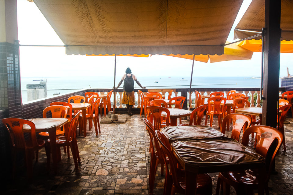
<svg viewBox="0 0 293 195"><path fill-rule="evenodd" d="M147 113L150 113L153 116L154 120L154 129L160 130L162 128L161 123L161 114L162 112L166 112L166 126L169 126L170 120L170 111L167 108L160 107L160 106L147 106L146 107Z"/></svg>

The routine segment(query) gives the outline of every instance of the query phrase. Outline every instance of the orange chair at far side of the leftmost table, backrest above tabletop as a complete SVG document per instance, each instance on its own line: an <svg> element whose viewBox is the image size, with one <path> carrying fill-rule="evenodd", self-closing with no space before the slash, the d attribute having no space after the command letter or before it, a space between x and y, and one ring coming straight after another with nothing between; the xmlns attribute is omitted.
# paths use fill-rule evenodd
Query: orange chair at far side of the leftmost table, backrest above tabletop
<svg viewBox="0 0 293 195"><path fill-rule="evenodd" d="M48 106L43 110L43 118L47 118L47 112L51 112L52 118L66 118L67 116L67 107L62 106L62 105L53 105L53 106ZM61 136L64 135L65 131L61 131L60 129L56 130L56 136ZM40 132L40 136L49 136L48 132Z"/></svg>

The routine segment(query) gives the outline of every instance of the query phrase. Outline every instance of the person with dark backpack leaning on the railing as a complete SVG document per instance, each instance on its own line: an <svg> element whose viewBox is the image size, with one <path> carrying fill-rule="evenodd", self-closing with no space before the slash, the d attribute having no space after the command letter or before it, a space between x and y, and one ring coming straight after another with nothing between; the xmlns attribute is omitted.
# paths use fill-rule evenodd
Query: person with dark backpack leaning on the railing
<svg viewBox="0 0 293 195"><path fill-rule="evenodd" d="M125 70L125 73L122 78L121 81L118 83L116 89L123 83L123 97L122 97L122 104L126 104L126 108L127 108L127 114L132 116L132 106L135 105L134 103L134 80L135 82L139 85L139 87L145 89L146 87L143 87L139 81L137 80L136 76L134 74L131 73L131 69L128 67Z"/></svg>

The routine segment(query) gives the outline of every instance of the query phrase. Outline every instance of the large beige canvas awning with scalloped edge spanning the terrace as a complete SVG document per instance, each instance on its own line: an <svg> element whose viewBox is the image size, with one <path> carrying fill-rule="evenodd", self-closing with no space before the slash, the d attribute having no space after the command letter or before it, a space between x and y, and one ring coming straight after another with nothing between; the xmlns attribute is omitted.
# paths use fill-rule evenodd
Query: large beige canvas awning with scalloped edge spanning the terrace
<svg viewBox="0 0 293 195"><path fill-rule="evenodd" d="M69 55L222 55L242 0L34 2Z"/></svg>

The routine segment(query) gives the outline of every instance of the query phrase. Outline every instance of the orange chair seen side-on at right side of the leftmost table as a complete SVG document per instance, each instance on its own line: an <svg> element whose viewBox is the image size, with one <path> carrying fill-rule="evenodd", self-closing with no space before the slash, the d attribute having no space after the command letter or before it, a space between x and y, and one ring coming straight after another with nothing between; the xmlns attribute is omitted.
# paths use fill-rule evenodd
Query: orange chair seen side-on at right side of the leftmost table
<svg viewBox="0 0 293 195"><path fill-rule="evenodd" d="M71 148L71 153L74 160L76 171L78 170L78 157L79 157L79 151L78 151L76 134L75 134L78 117L79 117L79 114L75 115L73 119L71 120L65 137L56 138L57 147L69 146ZM48 140L48 143L50 143L50 139ZM67 154L69 154L69 150L67 150ZM79 163L80 163L80 159L79 159Z"/></svg>

